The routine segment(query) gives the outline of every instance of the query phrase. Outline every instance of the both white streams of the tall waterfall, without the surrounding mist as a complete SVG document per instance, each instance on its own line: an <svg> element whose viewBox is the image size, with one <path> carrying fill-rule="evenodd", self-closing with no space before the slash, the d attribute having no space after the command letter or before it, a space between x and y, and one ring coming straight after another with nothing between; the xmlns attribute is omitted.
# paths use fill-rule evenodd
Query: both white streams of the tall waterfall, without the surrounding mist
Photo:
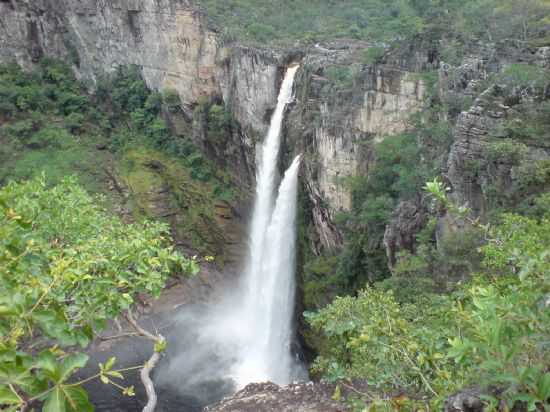
<svg viewBox="0 0 550 412"><path fill-rule="evenodd" d="M250 226L250 251L244 276L241 356L233 376L239 385L270 380L289 383L296 375L292 341L296 197L300 157L285 172L275 201L280 134L298 66L283 80L269 133L262 144L256 198Z"/></svg>

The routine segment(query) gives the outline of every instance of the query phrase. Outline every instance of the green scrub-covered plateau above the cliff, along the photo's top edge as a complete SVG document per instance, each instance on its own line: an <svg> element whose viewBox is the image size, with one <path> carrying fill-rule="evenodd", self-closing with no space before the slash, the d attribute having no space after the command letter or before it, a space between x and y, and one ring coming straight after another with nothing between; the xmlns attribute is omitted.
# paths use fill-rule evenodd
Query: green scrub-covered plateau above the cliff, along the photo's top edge
<svg viewBox="0 0 550 412"><path fill-rule="evenodd" d="M547 43L544 0L199 0L228 40L292 44L352 38L391 44L426 32ZM538 34L538 33L537 33Z"/></svg>

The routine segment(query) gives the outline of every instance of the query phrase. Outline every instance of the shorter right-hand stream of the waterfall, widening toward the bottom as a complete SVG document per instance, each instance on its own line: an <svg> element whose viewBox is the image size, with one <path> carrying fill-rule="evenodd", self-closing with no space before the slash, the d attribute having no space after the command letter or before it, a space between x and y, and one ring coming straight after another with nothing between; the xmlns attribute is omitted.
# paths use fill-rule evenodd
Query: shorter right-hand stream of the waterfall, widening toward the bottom
<svg viewBox="0 0 550 412"><path fill-rule="evenodd" d="M286 171L269 226L265 228L263 261L251 274L252 285L245 300L242 321L249 339L241 347L234 379L239 386L272 381L286 384L297 378L300 367L292 356L294 267L296 244L296 197L300 156Z"/></svg>

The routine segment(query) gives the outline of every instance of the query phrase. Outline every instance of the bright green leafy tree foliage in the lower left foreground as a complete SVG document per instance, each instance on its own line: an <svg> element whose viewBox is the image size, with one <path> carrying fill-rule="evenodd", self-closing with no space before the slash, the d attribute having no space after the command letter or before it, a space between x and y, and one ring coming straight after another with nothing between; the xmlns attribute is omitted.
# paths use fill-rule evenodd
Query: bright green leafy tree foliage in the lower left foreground
<svg viewBox="0 0 550 412"><path fill-rule="evenodd" d="M109 216L71 178L3 187L0 221L0 404L92 410L71 380L88 360L79 351L136 294L158 297L170 274L196 263L173 250L166 226ZM102 380L119 377L112 363Z"/></svg>

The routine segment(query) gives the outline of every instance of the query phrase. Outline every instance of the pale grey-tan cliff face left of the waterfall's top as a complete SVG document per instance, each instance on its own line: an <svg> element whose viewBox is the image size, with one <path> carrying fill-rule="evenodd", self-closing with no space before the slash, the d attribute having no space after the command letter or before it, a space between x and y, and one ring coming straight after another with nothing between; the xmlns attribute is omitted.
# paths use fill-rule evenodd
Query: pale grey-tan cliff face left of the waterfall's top
<svg viewBox="0 0 550 412"><path fill-rule="evenodd" d="M254 143L277 96L280 62L273 53L224 47L187 0L2 1L0 23L0 62L29 67L42 56L61 58L90 85L119 66L141 67L149 87L177 91L181 111L171 123L198 136L203 148L203 136L192 131L193 110L223 99L242 129L210 152L250 184Z"/></svg>

